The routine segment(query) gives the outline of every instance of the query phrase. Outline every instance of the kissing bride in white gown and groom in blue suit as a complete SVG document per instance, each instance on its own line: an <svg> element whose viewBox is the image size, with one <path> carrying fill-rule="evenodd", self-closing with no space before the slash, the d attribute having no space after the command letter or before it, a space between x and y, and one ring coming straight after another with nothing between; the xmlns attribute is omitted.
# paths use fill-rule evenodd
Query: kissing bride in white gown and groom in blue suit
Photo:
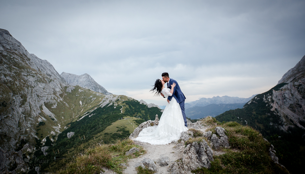
<svg viewBox="0 0 305 174"><path fill-rule="evenodd" d="M169 144L179 140L181 133L188 130L184 109L185 96L179 84L171 79L168 73L162 73L162 80L157 79L150 91L155 92L156 96L162 95L167 98L168 103L158 126L144 128L135 140L154 145Z"/></svg>

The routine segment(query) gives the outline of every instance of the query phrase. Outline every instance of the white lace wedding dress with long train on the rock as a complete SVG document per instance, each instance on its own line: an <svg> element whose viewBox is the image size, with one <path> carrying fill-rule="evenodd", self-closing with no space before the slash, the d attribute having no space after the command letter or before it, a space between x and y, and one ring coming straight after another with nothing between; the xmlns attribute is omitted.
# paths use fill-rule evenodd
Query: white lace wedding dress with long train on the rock
<svg viewBox="0 0 305 174"><path fill-rule="evenodd" d="M169 88L163 88L161 93L167 98L171 96ZM135 140L149 144L169 144L180 139L181 132L187 131L179 103L173 97L167 103L158 126L144 128Z"/></svg>

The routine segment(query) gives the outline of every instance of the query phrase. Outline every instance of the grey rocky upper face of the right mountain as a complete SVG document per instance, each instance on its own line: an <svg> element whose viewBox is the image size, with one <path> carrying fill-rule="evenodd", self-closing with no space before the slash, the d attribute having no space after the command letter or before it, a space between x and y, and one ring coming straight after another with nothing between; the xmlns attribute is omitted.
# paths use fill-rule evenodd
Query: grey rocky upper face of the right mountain
<svg viewBox="0 0 305 174"><path fill-rule="evenodd" d="M285 73L277 86L264 95L257 95L245 107L260 102L278 115L279 122L275 124L280 129L287 131L295 126L305 129L305 56ZM272 120L270 124L274 124Z"/></svg>

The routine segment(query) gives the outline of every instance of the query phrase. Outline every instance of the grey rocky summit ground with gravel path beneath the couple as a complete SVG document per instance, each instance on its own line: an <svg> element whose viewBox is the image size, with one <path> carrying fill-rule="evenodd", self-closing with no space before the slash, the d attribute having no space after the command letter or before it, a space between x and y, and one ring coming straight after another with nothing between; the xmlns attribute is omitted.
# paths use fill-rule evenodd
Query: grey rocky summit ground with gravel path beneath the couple
<svg viewBox="0 0 305 174"><path fill-rule="evenodd" d="M130 135L130 139L134 140L142 129L148 126L157 126L156 121L147 121L142 123ZM126 167L123 173L137 173L137 168L142 167L156 173L172 173L172 174L190 174L196 173L196 170L210 169L211 162L214 158L223 156L226 153L241 152L239 148L231 148L229 137L226 130L217 121L208 117L201 119L196 123L188 123L189 130L181 134L181 139L166 145L151 145L134 141L135 144L142 146L146 150L146 154L138 158L131 159L127 164L121 164ZM233 125L234 122L232 122ZM251 129L251 128L250 128ZM262 137L261 137L262 138ZM262 138L263 139L263 138ZM263 142L267 143L266 139ZM270 145L270 144L269 144ZM135 152L135 149L130 150ZM278 163L278 158L274 154L273 146L267 149L267 155L270 161L280 170L288 172L284 166ZM223 165L223 164L222 164ZM198 171L197 171L198 172ZM284 173L285 173L284 172Z"/></svg>

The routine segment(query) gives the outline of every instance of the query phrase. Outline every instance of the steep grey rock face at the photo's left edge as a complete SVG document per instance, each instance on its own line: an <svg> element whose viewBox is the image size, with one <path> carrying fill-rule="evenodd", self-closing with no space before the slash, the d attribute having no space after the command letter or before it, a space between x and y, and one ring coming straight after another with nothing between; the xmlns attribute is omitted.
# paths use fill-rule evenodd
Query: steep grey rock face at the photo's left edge
<svg viewBox="0 0 305 174"><path fill-rule="evenodd" d="M36 125L50 115L44 104L62 100L60 94L68 84L48 61L27 52L3 29L0 29L0 72L0 148L2 158L6 158L14 156L21 140L34 143L33 138L38 138ZM58 127L54 125L53 130ZM12 161L19 158L15 155ZM9 163L2 162L1 170Z"/></svg>

